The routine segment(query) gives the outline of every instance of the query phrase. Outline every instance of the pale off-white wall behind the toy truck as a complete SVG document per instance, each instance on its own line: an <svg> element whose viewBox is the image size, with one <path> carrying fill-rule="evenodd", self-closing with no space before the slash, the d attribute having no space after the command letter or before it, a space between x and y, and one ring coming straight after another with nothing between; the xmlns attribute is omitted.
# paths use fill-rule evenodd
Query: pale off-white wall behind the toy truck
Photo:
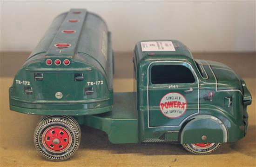
<svg viewBox="0 0 256 167"><path fill-rule="evenodd" d="M115 51L143 39L178 39L191 51L256 51L255 1L2 1L1 51L32 51L69 8L101 15Z"/></svg>

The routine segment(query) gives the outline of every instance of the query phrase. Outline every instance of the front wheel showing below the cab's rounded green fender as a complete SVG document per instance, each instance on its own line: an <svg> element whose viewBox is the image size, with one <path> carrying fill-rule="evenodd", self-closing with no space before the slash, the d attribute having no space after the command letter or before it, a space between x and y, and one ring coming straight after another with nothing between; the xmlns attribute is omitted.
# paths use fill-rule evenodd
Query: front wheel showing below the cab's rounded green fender
<svg viewBox="0 0 256 167"><path fill-rule="evenodd" d="M192 143L182 144L182 146L190 153L204 155L214 152L221 146L221 143Z"/></svg>

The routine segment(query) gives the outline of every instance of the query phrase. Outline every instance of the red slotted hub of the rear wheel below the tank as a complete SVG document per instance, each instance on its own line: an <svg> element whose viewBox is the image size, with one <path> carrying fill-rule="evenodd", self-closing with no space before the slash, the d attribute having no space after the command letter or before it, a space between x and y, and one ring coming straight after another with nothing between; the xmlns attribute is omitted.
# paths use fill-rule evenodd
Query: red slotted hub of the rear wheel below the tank
<svg viewBox="0 0 256 167"><path fill-rule="evenodd" d="M63 127L52 126L43 133L43 145L53 152L65 151L71 144L71 135Z"/></svg>

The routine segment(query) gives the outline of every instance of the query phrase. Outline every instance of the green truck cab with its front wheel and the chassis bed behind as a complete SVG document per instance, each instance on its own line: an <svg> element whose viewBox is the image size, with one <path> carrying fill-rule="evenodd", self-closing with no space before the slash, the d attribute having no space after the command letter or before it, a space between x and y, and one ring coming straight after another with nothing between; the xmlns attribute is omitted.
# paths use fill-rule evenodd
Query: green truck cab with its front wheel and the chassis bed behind
<svg viewBox="0 0 256 167"><path fill-rule="evenodd" d="M225 64L194 59L177 40L135 45L134 92L114 92L111 112L79 117L112 143L173 142L209 154L246 135L251 95Z"/></svg>

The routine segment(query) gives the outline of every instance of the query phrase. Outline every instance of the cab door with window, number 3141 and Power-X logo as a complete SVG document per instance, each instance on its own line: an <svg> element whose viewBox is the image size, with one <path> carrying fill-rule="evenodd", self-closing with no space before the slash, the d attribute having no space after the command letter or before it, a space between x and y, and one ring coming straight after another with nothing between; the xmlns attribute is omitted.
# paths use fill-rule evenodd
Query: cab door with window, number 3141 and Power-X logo
<svg viewBox="0 0 256 167"><path fill-rule="evenodd" d="M199 80L189 63L153 62L148 77L148 128L179 127L199 113Z"/></svg>

